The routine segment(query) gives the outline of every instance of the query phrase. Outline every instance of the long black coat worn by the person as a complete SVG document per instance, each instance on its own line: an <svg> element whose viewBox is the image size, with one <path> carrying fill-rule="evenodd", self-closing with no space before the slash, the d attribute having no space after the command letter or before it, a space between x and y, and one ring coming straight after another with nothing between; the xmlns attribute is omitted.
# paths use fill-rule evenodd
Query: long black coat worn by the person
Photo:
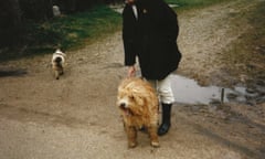
<svg viewBox="0 0 265 159"><path fill-rule="evenodd" d="M129 4L123 11L125 65L134 65L138 56L144 77L163 80L181 59L177 14L163 0L137 0L136 6L138 19Z"/></svg>

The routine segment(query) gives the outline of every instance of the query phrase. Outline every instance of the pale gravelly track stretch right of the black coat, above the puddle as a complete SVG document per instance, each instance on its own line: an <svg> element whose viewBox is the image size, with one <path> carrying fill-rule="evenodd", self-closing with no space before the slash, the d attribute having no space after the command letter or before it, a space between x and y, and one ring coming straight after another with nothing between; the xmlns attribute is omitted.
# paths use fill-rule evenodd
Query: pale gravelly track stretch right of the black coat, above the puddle
<svg viewBox="0 0 265 159"><path fill-rule="evenodd" d="M181 14L179 44L184 53L181 74L202 85L222 85L231 80L222 71L227 66L221 56L251 28L246 15L255 9L256 2L235 0Z"/></svg>

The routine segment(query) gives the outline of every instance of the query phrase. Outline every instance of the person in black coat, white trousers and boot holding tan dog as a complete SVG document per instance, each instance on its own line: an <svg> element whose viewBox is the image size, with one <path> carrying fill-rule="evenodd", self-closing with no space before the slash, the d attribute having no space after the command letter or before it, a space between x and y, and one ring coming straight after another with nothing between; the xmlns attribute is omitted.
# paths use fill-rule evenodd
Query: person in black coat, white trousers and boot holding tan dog
<svg viewBox="0 0 265 159"><path fill-rule="evenodd" d="M126 0L123 11L123 42L128 76L136 75L138 57L141 76L157 89L162 107L158 135L168 132L174 102L170 74L178 68L177 13L163 0Z"/></svg>

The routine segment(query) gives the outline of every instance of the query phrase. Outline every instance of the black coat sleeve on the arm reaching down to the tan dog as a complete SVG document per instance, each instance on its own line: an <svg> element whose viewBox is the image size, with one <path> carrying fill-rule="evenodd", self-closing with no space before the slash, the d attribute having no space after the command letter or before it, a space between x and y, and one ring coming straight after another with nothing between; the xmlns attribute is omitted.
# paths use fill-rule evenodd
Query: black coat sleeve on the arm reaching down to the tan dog
<svg viewBox="0 0 265 159"><path fill-rule="evenodd" d="M132 10L126 6L123 11L123 41L125 52L125 65L130 66L136 63L136 39L135 39L135 19Z"/></svg>

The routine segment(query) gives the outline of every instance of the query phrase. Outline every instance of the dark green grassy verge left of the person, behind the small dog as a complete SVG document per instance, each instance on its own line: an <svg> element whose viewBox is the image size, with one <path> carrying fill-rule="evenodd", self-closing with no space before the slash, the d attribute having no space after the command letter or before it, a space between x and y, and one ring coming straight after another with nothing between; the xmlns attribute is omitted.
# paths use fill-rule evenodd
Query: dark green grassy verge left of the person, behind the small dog
<svg viewBox="0 0 265 159"><path fill-rule="evenodd" d="M41 23L28 22L23 46L0 52L0 61L51 53L56 47L80 49L120 30L120 14L107 6L96 6L86 12L62 15Z"/></svg>

